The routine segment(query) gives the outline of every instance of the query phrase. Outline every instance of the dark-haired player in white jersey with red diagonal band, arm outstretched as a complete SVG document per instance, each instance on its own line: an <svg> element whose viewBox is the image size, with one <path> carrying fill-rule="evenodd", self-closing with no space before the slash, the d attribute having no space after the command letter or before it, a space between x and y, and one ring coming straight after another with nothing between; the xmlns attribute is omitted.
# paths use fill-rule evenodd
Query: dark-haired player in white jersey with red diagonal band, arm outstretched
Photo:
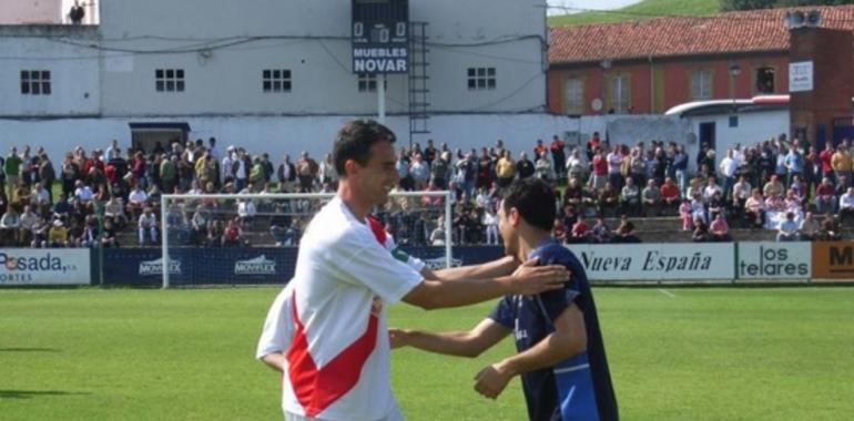
<svg viewBox="0 0 854 421"><path fill-rule="evenodd" d="M403 420L390 389L385 305L465 306L559 289L569 279L563 266L532 263L499 276L516 266L508 259L436 274L396 259L367 223L398 182L394 142L373 121L349 122L337 134L337 196L309 223L294 278L258 343L257 358L283 373L286 420Z"/></svg>

